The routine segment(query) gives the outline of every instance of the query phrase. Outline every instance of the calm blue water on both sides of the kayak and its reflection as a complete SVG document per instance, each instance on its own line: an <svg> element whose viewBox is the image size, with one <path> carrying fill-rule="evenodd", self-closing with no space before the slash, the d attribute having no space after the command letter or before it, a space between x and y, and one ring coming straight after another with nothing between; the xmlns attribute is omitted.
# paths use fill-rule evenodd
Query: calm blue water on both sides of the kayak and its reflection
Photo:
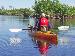
<svg viewBox="0 0 75 56"><path fill-rule="evenodd" d="M0 56L41 56L28 31L12 33L11 28L27 28L28 20L0 16ZM75 56L75 28L58 32L58 44L50 45L47 56Z"/></svg>

